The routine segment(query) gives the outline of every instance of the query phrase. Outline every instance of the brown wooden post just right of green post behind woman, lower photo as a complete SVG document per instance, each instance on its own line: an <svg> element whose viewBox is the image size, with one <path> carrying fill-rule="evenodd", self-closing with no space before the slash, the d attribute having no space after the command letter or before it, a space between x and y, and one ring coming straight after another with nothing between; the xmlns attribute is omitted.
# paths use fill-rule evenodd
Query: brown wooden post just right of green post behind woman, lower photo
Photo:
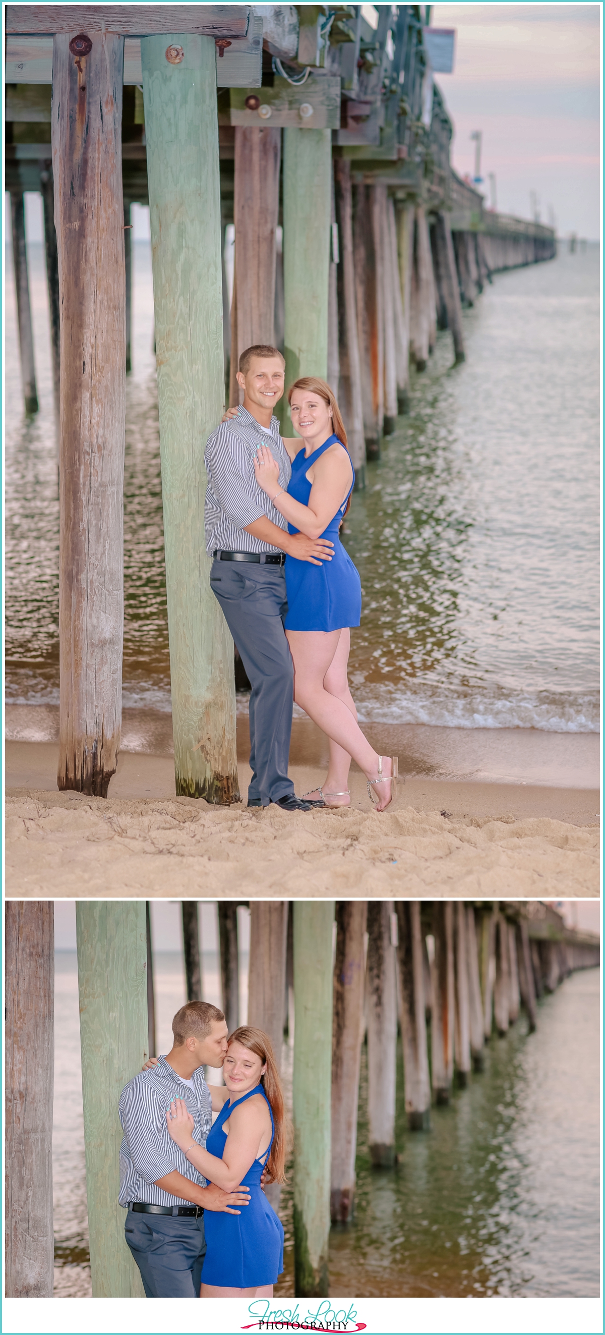
<svg viewBox="0 0 605 1335"><path fill-rule="evenodd" d="M338 900L336 905L330 1216L342 1224L353 1215L354 1199L366 916L366 900Z"/></svg>

